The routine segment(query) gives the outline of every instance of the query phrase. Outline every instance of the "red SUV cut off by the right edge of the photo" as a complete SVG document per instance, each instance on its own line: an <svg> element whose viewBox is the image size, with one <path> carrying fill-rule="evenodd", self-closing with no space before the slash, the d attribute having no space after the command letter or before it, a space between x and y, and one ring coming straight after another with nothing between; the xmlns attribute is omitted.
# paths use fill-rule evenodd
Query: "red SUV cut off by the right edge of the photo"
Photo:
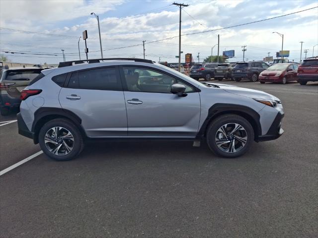
<svg viewBox="0 0 318 238"><path fill-rule="evenodd" d="M305 85L309 81L318 81L318 58L306 59L298 67L298 82Z"/></svg>

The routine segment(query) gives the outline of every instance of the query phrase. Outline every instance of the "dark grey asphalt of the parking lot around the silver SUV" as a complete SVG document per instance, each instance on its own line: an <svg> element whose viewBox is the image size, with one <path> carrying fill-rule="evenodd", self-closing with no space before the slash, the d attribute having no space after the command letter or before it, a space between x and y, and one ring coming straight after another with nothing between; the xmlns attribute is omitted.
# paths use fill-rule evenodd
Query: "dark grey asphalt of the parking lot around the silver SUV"
<svg viewBox="0 0 318 238"><path fill-rule="evenodd" d="M0 176L0 237L318 237L318 84L222 83L280 98L284 135L237 159L190 142L41 154ZM1 124L0 171L40 151Z"/></svg>

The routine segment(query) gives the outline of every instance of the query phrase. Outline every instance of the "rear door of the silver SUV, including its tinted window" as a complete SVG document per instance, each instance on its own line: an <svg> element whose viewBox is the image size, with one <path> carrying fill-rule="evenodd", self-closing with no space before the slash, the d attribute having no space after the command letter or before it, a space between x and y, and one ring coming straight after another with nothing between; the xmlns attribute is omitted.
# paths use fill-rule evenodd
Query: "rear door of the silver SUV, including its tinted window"
<svg viewBox="0 0 318 238"><path fill-rule="evenodd" d="M116 67L69 73L59 100L63 109L79 116L87 136L127 136L126 105Z"/></svg>

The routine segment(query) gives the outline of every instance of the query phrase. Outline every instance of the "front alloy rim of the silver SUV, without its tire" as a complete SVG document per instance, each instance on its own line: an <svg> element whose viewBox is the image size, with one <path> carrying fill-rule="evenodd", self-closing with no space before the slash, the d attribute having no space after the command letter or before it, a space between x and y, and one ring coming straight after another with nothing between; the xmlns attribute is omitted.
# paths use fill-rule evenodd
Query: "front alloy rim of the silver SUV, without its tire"
<svg viewBox="0 0 318 238"><path fill-rule="evenodd" d="M247 142L247 132L238 123L222 125L215 134L215 142L220 150L235 153L241 150Z"/></svg>

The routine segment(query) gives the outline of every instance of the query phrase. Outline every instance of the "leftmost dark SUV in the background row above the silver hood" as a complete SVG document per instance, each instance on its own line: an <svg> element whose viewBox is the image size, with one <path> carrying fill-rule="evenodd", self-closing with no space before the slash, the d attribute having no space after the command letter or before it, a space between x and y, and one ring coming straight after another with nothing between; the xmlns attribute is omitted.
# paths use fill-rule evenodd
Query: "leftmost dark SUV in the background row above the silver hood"
<svg viewBox="0 0 318 238"><path fill-rule="evenodd" d="M190 69L190 77L194 79L204 78L211 80L214 78L214 69L218 63L195 63Z"/></svg>

